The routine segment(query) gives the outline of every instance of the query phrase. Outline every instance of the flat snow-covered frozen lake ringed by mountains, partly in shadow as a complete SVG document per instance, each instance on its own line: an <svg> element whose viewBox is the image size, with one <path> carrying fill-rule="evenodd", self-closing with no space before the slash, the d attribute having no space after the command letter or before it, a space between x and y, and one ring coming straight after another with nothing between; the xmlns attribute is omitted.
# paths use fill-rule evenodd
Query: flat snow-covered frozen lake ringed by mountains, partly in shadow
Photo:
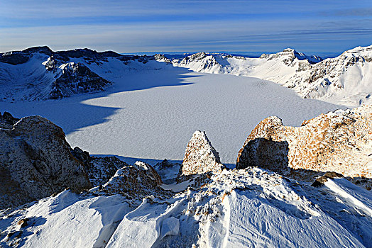
<svg viewBox="0 0 372 248"><path fill-rule="evenodd" d="M346 108L270 81L176 68L128 71L105 92L62 100L0 102L16 117L42 115L65 130L72 147L133 159L182 160L195 130L205 130L221 162L234 164L251 130L278 115L285 125ZM101 72L104 74L105 72Z"/></svg>

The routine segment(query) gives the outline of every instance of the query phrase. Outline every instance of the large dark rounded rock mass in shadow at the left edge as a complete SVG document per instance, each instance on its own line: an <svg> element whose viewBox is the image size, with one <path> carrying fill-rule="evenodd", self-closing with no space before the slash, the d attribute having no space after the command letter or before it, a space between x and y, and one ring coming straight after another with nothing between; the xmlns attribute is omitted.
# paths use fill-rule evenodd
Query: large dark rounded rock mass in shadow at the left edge
<svg viewBox="0 0 372 248"><path fill-rule="evenodd" d="M65 133L40 116L0 128L0 208L34 201L70 187L91 184L83 164L72 156Z"/></svg>

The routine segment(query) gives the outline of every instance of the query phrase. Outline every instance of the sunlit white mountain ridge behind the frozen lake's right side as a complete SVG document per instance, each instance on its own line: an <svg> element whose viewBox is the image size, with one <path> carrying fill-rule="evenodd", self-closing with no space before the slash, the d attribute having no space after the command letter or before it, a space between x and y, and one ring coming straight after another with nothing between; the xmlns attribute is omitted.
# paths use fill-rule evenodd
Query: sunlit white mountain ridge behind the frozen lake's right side
<svg viewBox="0 0 372 248"><path fill-rule="evenodd" d="M157 57L158 61L168 62ZM235 74L274 81L303 98L360 106L372 103L372 45L356 47L322 60L290 48L259 58L199 52L171 61L195 72Z"/></svg>

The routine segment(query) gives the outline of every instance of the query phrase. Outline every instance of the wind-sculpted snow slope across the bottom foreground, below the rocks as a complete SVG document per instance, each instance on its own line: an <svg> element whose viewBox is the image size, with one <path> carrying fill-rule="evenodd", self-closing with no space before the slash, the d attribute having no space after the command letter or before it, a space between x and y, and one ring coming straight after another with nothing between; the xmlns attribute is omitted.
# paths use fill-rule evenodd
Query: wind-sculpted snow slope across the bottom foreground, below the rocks
<svg viewBox="0 0 372 248"><path fill-rule="evenodd" d="M17 210L2 210L0 244L371 247L371 194L346 179L314 188L250 168L225 169L206 180L170 198L143 198L139 205L118 195L64 191ZM27 225L17 224L25 218Z"/></svg>

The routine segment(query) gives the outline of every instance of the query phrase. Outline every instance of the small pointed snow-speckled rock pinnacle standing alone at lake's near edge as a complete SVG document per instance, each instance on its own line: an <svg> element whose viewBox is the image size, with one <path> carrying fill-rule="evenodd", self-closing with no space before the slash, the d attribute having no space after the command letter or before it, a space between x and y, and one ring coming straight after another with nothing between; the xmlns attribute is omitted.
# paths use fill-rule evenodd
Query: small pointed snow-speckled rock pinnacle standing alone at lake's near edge
<svg viewBox="0 0 372 248"><path fill-rule="evenodd" d="M204 131L196 131L187 144L180 175L204 174L209 171L221 171L224 165L219 153L214 149Z"/></svg>

